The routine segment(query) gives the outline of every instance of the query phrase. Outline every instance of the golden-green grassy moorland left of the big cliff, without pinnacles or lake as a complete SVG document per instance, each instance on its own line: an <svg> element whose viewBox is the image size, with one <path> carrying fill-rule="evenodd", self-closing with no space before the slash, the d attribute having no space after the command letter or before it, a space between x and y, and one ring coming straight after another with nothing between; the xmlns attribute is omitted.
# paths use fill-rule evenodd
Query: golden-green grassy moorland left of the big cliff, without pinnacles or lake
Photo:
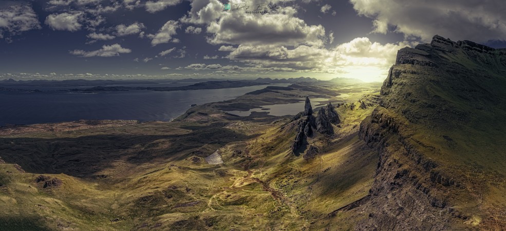
<svg viewBox="0 0 506 231"><path fill-rule="evenodd" d="M372 185L377 152L357 133L377 104L377 96L363 95L378 90L301 85L200 105L172 123L23 128L0 139L0 157L7 162L0 164L0 228L353 227L342 220L332 223L329 213L366 196ZM339 98L340 93L349 97ZM320 148L311 160L291 152L297 126L292 117L240 118L221 111L237 110L236 103L250 107L305 95L341 103L336 110L342 123L334 125L334 136L315 134L309 140ZM279 102L269 100L273 98ZM357 99L368 106L361 108ZM224 163L205 162L216 151Z"/></svg>

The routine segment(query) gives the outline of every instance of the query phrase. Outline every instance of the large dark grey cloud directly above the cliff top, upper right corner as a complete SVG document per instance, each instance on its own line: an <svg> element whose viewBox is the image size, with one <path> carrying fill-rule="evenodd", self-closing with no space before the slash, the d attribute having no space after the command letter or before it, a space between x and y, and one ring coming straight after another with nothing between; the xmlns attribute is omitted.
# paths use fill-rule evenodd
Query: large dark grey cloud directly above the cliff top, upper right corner
<svg viewBox="0 0 506 231"><path fill-rule="evenodd" d="M501 0L350 2L360 15L372 18L376 33L387 33L391 28L407 38L420 37L424 42L429 42L435 34L475 42L506 37L506 5Z"/></svg>

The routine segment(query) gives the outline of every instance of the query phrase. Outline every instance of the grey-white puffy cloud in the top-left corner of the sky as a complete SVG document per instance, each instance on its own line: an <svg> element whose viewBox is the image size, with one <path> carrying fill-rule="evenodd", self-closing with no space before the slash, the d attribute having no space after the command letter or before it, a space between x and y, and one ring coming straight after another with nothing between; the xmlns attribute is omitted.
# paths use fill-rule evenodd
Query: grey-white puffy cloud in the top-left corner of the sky
<svg viewBox="0 0 506 231"><path fill-rule="evenodd" d="M0 9L0 38L4 32L17 35L24 31L40 29L37 14L30 5L16 5Z"/></svg>

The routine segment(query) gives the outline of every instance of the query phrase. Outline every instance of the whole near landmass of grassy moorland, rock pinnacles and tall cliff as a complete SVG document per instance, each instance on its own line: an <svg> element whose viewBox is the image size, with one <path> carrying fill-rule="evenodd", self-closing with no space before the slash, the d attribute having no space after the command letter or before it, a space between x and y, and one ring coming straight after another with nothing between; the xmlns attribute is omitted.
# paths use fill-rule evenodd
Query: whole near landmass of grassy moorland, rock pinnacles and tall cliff
<svg viewBox="0 0 506 231"><path fill-rule="evenodd" d="M499 230L505 74L503 49L436 35L383 84L271 86L172 122L2 127L0 227Z"/></svg>

